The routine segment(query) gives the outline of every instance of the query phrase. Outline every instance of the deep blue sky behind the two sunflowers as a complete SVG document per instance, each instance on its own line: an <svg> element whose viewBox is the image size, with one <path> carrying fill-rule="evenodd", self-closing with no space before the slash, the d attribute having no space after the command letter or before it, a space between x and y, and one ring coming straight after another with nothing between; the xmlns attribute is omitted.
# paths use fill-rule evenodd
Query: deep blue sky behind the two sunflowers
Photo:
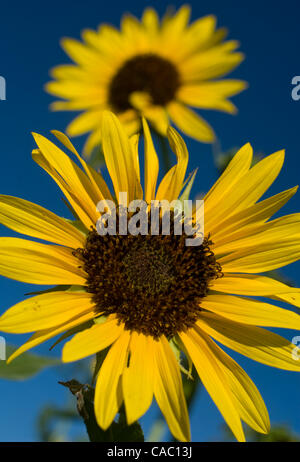
<svg viewBox="0 0 300 462"><path fill-rule="evenodd" d="M215 14L220 26L226 26L230 38L241 42L245 62L234 72L250 88L235 98L238 116L205 112L219 135L224 150L250 141L256 151L269 154L286 148L287 158L272 192L299 183L300 101L291 98L291 79L300 74L299 13L297 2L247 2L222 0L190 2L192 17ZM181 2L173 1L176 7ZM63 36L80 36L83 28L96 28L100 22L118 26L124 9L140 17L148 2L127 0L52 0L51 2L5 2L1 5L0 75L7 81L7 101L0 101L0 192L32 200L58 213L65 213L56 186L34 165L30 152L34 147L30 132L47 134L63 130L72 113L50 113L52 98L43 90L51 67L68 62L59 46ZM153 1L160 14L168 2ZM79 146L82 139L78 140ZM197 191L206 191L216 178L209 146L187 140L190 169L199 166ZM299 194L285 207L285 212L299 210ZM1 228L2 235L13 235ZM299 286L300 265L290 265L285 274ZM3 312L20 300L31 287L0 279ZM293 333L285 333L292 338ZM299 335L299 333L298 333ZM11 338L9 338L11 340ZM21 343L21 337L14 341ZM37 349L47 352L47 347ZM58 355L59 351L54 352ZM270 411L272 422L289 424L300 432L299 375L271 369L238 357L255 380ZM45 403L63 404L65 391L59 378L71 378L60 369L43 372L24 383L1 381L0 441L31 441L37 437L35 419ZM154 412L152 412L153 414ZM150 427L151 413L143 419ZM194 441L222 438L222 418L205 391L199 396L192 416Z"/></svg>

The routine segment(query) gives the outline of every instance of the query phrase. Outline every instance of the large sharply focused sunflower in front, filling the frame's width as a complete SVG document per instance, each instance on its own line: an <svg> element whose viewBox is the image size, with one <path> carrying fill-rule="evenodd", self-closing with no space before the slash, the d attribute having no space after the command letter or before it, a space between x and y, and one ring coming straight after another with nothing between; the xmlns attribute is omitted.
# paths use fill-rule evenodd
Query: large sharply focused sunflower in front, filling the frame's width
<svg viewBox="0 0 300 462"><path fill-rule="evenodd" d="M137 138L129 139L113 114L103 116L103 151L114 193L119 197L126 191L128 201L171 202L183 188L188 152L170 128L177 164L157 187L158 158L143 125L144 191ZM257 388L215 340L261 363L300 369L292 357L294 345L264 329L300 329L300 316L251 298L300 306L299 289L256 274L300 257L300 214L270 221L297 188L257 202L279 174L284 152L251 167L251 146L240 149L205 197L207 235L202 245L186 247L183 236L97 234L96 204L112 200L112 194L70 141L54 134L81 168L41 135L34 135L39 149L33 156L61 188L78 220L1 196L4 225L51 244L1 238L0 273L27 283L70 287L26 299L2 315L0 330L35 332L9 360L58 334L59 340L74 334L63 347L65 362L107 349L95 391L99 425L107 429L123 402L131 424L155 397L174 437L185 441L190 430L181 351L238 440L244 440L242 420L268 432L268 412Z"/></svg>

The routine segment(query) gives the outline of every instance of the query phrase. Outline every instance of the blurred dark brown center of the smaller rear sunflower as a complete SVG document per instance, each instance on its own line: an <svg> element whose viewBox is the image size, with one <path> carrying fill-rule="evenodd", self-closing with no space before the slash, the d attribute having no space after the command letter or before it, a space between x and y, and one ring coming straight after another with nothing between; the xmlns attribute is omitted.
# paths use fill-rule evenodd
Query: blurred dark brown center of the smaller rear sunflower
<svg viewBox="0 0 300 462"><path fill-rule="evenodd" d="M180 85L179 74L168 60L154 54L135 56L123 64L109 87L109 103L116 112L130 109L133 92L147 92L152 103L164 106L174 99Z"/></svg>

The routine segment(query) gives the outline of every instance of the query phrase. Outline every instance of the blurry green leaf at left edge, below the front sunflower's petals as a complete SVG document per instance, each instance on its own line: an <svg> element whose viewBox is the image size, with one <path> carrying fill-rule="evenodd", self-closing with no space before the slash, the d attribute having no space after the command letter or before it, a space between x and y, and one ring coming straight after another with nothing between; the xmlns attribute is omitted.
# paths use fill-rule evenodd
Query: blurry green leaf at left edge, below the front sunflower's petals
<svg viewBox="0 0 300 462"><path fill-rule="evenodd" d="M17 347L6 346L6 357L8 358ZM49 366L57 366L61 361L57 358L49 358L32 353L24 353L14 359L10 364L0 361L0 378L6 380L25 380L33 377Z"/></svg>

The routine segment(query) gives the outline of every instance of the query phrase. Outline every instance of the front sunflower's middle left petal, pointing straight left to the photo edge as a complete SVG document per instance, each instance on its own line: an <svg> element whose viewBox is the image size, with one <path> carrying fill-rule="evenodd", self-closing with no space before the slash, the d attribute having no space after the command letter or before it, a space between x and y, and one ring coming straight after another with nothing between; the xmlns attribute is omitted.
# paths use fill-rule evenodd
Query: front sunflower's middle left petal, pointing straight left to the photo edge
<svg viewBox="0 0 300 462"><path fill-rule="evenodd" d="M26 241L0 238L0 274L31 284L84 285L85 272L72 250Z"/></svg>

